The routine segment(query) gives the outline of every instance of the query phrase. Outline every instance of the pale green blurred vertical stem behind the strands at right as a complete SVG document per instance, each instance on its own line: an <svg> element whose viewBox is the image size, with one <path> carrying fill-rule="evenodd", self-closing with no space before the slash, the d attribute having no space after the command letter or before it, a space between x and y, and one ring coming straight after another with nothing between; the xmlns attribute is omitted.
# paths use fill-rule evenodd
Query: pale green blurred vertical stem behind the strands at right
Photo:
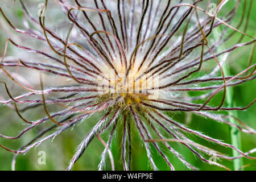
<svg viewBox="0 0 256 182"><path fill-rule="evenodd" d="M214 38L216 40L218 40L220 35L221 35L220 28L219 27L215 28ZM224 46L223 45L218 48L218 51L222 51L222 50L224 50ZM224 59L223 56L219 56L218 60L222 60L222 59ZM224 75L225 76L229 76L230 75L230 68L229 68L228 61L226 61L226 60L223 60L223 61L225 61L224 65L222 66ZM226 88L226 104L229 107L236 107L236 101L234 101L234 91L233 91L232 87L227 87ZM233 111L229 111L229 115L233 115L233 116L237 117L238 113L237 113L236 110L233 110ZM233 124L237 124L236 120L233 117L229 118L229 122L233 123ZM230 135L231 144L234 147L236 147L236 148L241 150L242 143L241 143L240 130L238 130L236 127L231 127L230 126L230 128L229 128L229 135ZM238 156L238 155L240 155L240 154L236 150L232 149L232 156L235 157L235 156ZM240 170L242 166L243 166L242 158L234 159L233 160L233 167L234 167L235 171Z"/></svg>

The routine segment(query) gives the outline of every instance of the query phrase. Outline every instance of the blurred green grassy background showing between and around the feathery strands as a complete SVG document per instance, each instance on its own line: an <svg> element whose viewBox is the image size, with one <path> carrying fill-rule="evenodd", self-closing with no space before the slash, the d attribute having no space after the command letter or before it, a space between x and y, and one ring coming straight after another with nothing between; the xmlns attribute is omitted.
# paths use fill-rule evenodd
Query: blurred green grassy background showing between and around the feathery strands
<svg viewBox="0 0 256 182"><path fill-rule="evenodd" d="M6 0L6 2L7 1L9 0ZM15 14L15 18L13 18L15 22L22 21L22 9L20 9L19 3L15 2L13 3L13 6L14 7L11 7L11 5L6 5L7 9L5 9L5 11L7 12L7 14L11 14L11 13ZM229 7L232 7L232 6L228 6L228 5L225 6L224 10L228 12ZM248 11L248 8L249 6L247 6L247 11ZM238 7L238 13L235 16L235 20L233 24L236 24L237 22L240 21L242 9L243 9L243 3L241 3L241 6ZM246 33L251 36L255 36L256 2L253 3L252 9L253 11L250 16L249 26L247 28ZM246 11L246 15L247 15L247 11ZM1 23L0 53L2 55L7 36L10 36L12 34L17 36L18 34L14 32L11 32L11 33L8 32L8 30L6 29L5 20L3 20L2 15L0 16L0 20L1 20L0 22ZM243 25L244 24L245 22L243 22ZM2 28L2 26L5 28ZM12 31L11 28L9 30ZM236 35L232 38L232 40L230 40L230 44L232 42L236 42L240 38L240 36L241 35L239 33L236 33ZM249 39L244 38L243 42L246 42L246 41L249 41ZM8 53L9 54L14 53L15 50L16 49L14 48L10 48ZM251 51L251 46L247 46L247 47L239 48L237 49L237 51L234 51L229 55L228 61L230 65L230 71L232 74L235 75L236 73L242 71L242 69L246 68L250 51ZM256 53L254 53L253 63L255 63L255 60L256 60ZM216 65L216 62L212 60L209 63L209 65L210 64ZM0 76L1 75L3 75L3 72L0 72ZM240 86L235 86L233 89L234 89L234 100L236 101L237 106L246 106L255 98L256 80L245 82ZM2 85L1 85L1 92L5 92ZM192 96L192 95L198 95L201 93L193 92L189 94ZM210 102L210 104L217 105L219 103L218 98L220 98L221 96L222 94L218 94L218 96L215 97L215 99L212 102ZM256 112L256 104L251 106L246 111L238 111L238 117L247 125L256 129L255 112ZM181 112L181 113L175 113L171 115L174 119L176 119L176 121L185 123L186 125L188 125L188 127L191 127L192 129L203 131L204 134L207 134L210 137L222 139L225 142L230 143L229 127L226 125L213 121L212 119L196 116L194 114L185 114ZM40 112L40 109L35 111L34 113L30 112L30 113L24 114L24 117L27 117L30 119L36 119L43 116L44 114ZM16 169L18 170L63 170L65 169L68 165L69 160L72 158L76 147L79 145L80 141L85 137L85 135L88 133L90 128L96 123L96 121L97 121L97 118L92 118L89 121L83 122L79 126L74 127L73 129L64 131L64 133L61 133L60 135L58 135L53 141L50 140L40 144L40 146L27 152L26 155L20 154L18 156L18 159L16 160ZM15 111L11 110L7 106L0 105L0 133L1 134L5 134L9 136L17 135L19 131L21 131L22 129L24 129L24 127L26 127L21 123L22 121L20 121ZM28 134L25 134L22 138L17 140L6 140L3 138L0 138L0 143L10 148L18 149L20 146L26 144L28 141L30 141L30 139L35 137L39 130L41 129L37 128L36 130L29 132ZM242 136L242 151L249 151L251 148L256 147L255 135L242 133L241 136ZM103 135L104 139L106 139L106 137L107 135ZM117 134L114 135L112 151L115 159L115 168L118 170L122 170L123 168L122 168L121 158L119 157L119 152L121 151L121 147L118 144L118 137L119 135ZM133 133L132 137L133 137L133 148L132 148L131 169L149 170L150 167L148 165L146 151L144 150L144 147L142 147L142 142L139 139L139 135L137 131ZM204 144L205 146L213 148L214 150L223 152L224 154L232 155L232 151L228 148L220 147L215 144L209 143L207 141L204 141L198 138L193 138L192 136L188 136L188 137L194 139L195 141L201 144ZM177 144L177 143L170 143L170 144L177 151L179 151L180 154L182 154L185 157L185 159L187 159L191 164L193 164L200 170L222 170L222 168L211 166L209 164L202 162L200 159L196 158L190 151L188 151L186 148L181 146L181 144ZM73 169L74 170L96 170L97 165L101 159L100 158L101 152L103 150L104 150L104 146L102 146L100 141L97 138L93 139L92 143L89 145L89 147L87 148L87 150L85 151L84 155L79 160L79 162L75 164L75 167ZM46 165L38 164L39 151L46 152ZM167 153L167 151L165 152ZM162 157L154 149L152 150L152 153L154 155L155 163L159 167L159 169L168 170L169 168L167 164L164 162L164 160L162 159ZM252 154L251 156L256 156L256 154ZM175 169L187 170L187 167L185 167L170 152L168 152L168 157L170 158ZM12 153L0 148L0 170L10 170L12 158L13 158ZM233 168L232 167L233 164L230 161L218 160L217 162L224 164L225 166L231 169ZM245 170L256 170L256 160L243 159L243 164L244 165L248 164ZM107 159L107 162L106 162L106 169L111 169L109 158Z"/></svg>

